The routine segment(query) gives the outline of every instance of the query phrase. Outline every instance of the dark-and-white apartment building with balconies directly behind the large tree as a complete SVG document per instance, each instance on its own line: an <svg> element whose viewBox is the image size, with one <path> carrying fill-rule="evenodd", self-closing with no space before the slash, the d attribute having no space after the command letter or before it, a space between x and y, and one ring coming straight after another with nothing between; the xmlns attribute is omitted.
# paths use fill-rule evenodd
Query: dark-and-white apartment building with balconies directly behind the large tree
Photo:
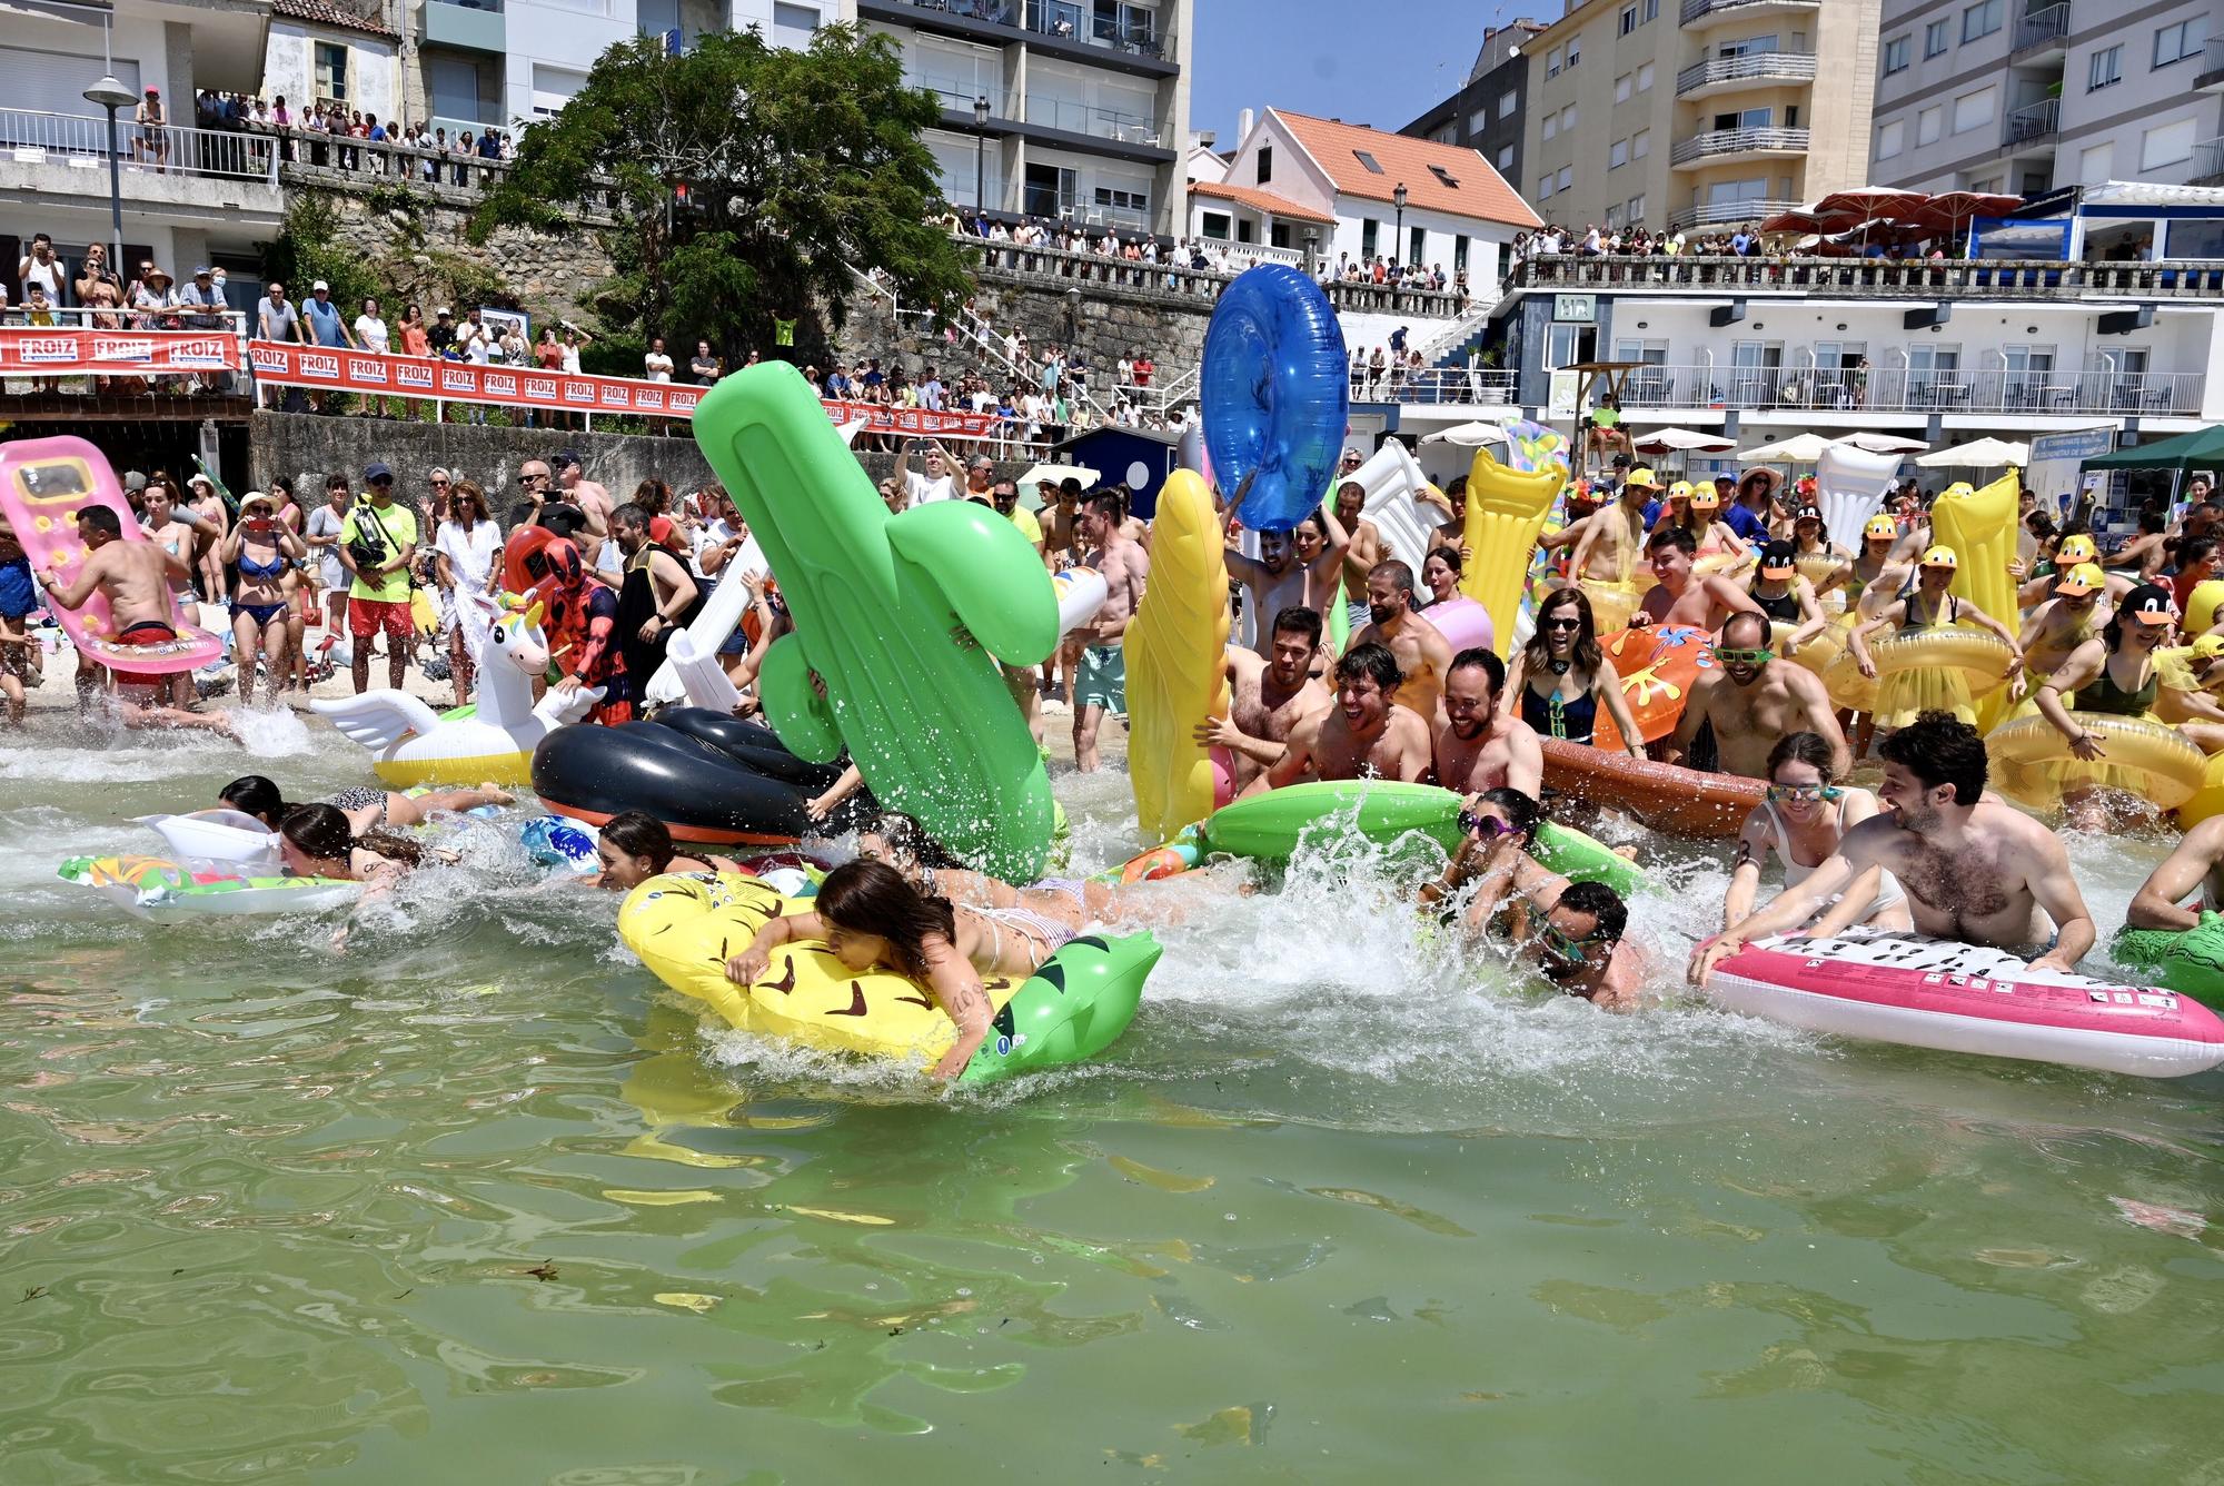
<svg viewBox="0 0 2224 1486"><path fill-rule="evenodd" d="M850 0L845 0L850 2ZM943 100L943 196L992 216L1179 231L1192 0L854 0Z"/></svg>

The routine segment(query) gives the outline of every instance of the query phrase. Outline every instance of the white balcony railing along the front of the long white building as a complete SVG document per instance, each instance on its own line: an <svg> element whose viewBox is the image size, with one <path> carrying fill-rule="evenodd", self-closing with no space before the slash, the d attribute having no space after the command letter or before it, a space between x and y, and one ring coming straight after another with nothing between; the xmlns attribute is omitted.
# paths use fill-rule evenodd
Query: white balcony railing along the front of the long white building
<svg viewBox="0 0 2224 1486"><path fill-rule="evenodd" d="M2204 371L2010 371L1928 367L1639 367L1621 387L1632 416L1692 409L1868 414L2200 414Z"/></svg>

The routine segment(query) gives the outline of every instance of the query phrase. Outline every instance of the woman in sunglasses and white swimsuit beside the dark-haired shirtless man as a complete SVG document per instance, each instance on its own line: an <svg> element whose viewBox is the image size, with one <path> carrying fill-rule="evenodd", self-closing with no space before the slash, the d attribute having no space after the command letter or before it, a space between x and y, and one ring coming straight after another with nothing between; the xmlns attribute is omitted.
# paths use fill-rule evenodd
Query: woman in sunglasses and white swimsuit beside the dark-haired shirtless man
<svg viewBox="0 0 2224 1486"><path fill-rule="evenodd" d="M1797 888L1837 854L1837 843L1850 828L1877 814L1875 794L1830 783L1837 779L1835 754L1837 750L1813 732L1788 734L1768 750L1768 796L1753 808L1744 830L1737 832L1737 861L1730 868L1730 892L1721 901L1721 928L1753 917L1761 868L1768 865L1770 852L1784 863L1784 885ZM1859 872L1828 908L1835 928L1913 925L1899 879L1884 868ZM1844 912L1835 912L1839 908Z"/></svg>

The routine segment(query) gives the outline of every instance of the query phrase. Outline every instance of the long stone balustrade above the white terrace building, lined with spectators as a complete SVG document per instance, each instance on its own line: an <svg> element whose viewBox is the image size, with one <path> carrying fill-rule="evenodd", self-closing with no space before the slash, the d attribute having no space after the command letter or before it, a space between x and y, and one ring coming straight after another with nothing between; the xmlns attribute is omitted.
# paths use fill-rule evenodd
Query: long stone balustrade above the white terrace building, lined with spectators
<svg viewBox="0 0 2224 1486"><path fill-rule="evenodd" d="M1521 258L1506 289L1699 289L1708 294L1857 294L1893 298L2075 300L2224 298L2224 262L2062 262L2055 258L1804 258L1690 254L1635 258L1552 254Z"/></svg>

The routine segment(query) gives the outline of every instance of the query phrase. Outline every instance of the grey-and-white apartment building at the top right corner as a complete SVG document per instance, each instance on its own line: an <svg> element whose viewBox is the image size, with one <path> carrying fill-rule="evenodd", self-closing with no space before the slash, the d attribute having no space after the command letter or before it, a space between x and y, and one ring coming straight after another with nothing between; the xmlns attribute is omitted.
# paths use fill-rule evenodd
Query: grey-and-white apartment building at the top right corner
<svg viewBox="0 0 2224 1486"><path fill-rule="evenodd" d="M2037 196L2224 176L2217 0L1884 0L1870 178Z"/></svg>

